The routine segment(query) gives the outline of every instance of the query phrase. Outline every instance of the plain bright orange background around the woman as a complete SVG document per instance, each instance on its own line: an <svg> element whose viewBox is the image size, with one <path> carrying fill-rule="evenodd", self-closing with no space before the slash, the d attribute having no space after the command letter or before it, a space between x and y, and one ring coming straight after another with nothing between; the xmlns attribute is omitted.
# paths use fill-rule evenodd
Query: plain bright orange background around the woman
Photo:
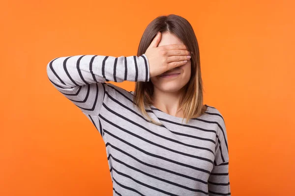
<svg viewBox="0 0 295 196"><path fill-rule="evenodd" d="M193 26L204 103L224 116L232 195L294 194L294 1L1 4L1 196L112 195L99 132L54 88L46 66L59 56L136 55L146 26L171 13Z"/></svg>

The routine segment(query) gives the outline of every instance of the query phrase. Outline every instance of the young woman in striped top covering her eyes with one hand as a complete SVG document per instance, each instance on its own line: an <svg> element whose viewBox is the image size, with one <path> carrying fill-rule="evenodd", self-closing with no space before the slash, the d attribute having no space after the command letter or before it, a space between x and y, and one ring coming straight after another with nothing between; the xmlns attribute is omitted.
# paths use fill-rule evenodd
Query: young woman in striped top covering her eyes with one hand
<svg viewBox="0 0 295 196"><path fill-rule="evenodd" d="M58 57L47 73L100 132L114 196L231 195L225 122L203 105L198 42L184 18L154 19L137 56ZM125 80L134 92L106 83Z"/></svg>

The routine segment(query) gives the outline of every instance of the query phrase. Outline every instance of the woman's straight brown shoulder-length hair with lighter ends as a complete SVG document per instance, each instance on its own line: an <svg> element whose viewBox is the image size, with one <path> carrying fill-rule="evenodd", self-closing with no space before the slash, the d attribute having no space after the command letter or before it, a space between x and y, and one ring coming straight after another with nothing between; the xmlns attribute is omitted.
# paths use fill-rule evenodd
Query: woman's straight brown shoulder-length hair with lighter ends
<svg viewBox="0 0 295 196"><path fill-rule="evenodd" d="M177 15L170 14L168 16L159 16L155 18L146 28L139 43L137 56L146 52L148 46L156 36L157 32L164 33L166 31L176 35L180 39L191 54L191 77L184 86L184 94L179 100L179 108L183 110L184 119L188 123L189 119L199 117L205 113L203 108L203 82L200 67L200 52L198 41L190 23ZM147 117L148 121L160 125L148 116L145 105L152 103L153 84L148 82L136 82L134 91L134 103L138 109Z"/></svg>

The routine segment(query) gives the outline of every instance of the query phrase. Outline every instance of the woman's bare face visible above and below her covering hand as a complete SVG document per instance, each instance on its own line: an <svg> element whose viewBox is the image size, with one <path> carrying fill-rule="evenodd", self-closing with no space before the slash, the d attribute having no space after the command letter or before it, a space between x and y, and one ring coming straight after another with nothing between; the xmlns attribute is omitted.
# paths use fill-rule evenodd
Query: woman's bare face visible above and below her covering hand
<svg viewBox="0 0 295 196"><path fill-rule="evenodd" d="M170 45L170 44L183 44L177 36L174 34L171 34L169 32L162 33L162 38L160 43L158 44L158 47L164 46L164 45ZM179 67L176 67L174 69L171 69L165 73L178 73L175 76L161 76L156 75L154 77L151 77L150 80L154 85L154 88L157 88L160 91L163 92L177 92L179 91L183 86L187 84L187 82L190 79L191 75L191 60L189 59L186 64L181 65ZM164 74L165 74L164 73Z"/></svg>

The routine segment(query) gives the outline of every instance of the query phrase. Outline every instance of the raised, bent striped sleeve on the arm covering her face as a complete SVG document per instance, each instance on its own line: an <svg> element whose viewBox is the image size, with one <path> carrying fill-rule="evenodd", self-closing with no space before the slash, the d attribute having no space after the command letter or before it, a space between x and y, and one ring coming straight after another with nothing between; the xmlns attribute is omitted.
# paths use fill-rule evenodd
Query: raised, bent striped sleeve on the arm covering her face
<svg viewBox="0 0 295 196"><path fill-rule="evenodd" d="M83 113L97 116L109 87L105 81L149 81L149 64L145 54L66 56L51 60L47 75L54 87Z"/></svg>

